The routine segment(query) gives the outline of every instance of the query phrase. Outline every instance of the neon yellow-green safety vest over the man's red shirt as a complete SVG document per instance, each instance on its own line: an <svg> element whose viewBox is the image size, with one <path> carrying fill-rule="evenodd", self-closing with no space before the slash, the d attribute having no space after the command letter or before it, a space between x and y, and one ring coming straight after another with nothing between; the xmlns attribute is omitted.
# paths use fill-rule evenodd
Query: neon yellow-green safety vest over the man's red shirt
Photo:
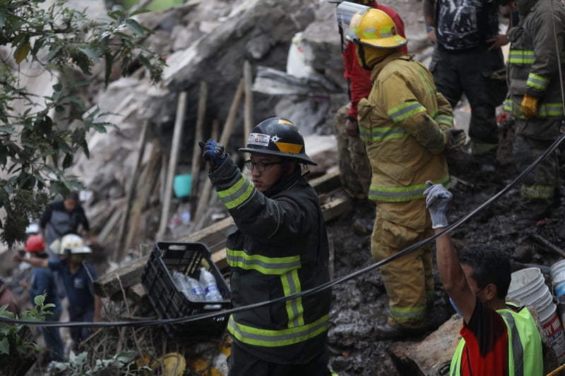
<svg viewBox="0 0 565 376"><path fill-rule="evenodd" d="M518 312L511 309L496 312L500 313L508 329L509 376L542 376L542 340L530 311L522 307ZM451 360L450 376L460 376L464 347L465 339L461 339Z"/></svg>

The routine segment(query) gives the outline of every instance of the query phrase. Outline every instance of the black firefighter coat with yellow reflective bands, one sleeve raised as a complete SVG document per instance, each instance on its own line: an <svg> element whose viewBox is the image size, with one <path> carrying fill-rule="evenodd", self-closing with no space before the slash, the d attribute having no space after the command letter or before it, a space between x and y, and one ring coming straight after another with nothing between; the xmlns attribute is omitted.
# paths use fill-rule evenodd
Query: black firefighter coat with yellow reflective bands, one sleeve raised
<svg viewBox="0 0 565 376"><path fill-rule="evenodd" d="M231 158L209 174L235 226L226 241L232 305L270 301L329 281L328 237L318 194L295 170L263 194ZM234 341L272 363L307 363L327 350L331 290L235 313Z"/></svg>

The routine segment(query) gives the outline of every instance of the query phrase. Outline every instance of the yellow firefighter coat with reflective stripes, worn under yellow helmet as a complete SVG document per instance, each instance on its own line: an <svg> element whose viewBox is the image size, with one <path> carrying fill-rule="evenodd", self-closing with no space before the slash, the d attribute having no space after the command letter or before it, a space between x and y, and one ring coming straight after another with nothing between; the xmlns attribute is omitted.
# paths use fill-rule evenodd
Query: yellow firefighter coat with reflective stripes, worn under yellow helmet
<svg viewBox="0 0 565 376"><path fill-rule="evenodd" d="M357 107L372 171L369 198L421 199L428 180L448 188L443 131L453 128L453 112L432 73L412 55L396 52L373 68L372 79L371 94Z"/></svg>

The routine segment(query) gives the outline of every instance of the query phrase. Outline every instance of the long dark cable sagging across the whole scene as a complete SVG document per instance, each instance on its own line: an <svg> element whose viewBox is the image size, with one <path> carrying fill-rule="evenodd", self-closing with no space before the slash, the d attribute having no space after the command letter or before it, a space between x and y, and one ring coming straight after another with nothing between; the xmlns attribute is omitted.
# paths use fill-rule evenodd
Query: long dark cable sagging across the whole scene
<svg viewBox="0 0 565 376"><path fill-rule="evenodd" d="M347 274L347 275L340 277L338 279L333 279L332 281L328 281L325 284L321 284L319 286L316 286L313 289L309 289L307 291L302 291L301 293L296 293L296 294L293 294L293 295L290 295L290 296L283 296L281 298L276 298L276 299L273 299L273 300L270 300L270 301L263 301L263 302L254 303L254 304L251 304L251 305L245 305L245 306L239 307L239 308L230 308L228 310L215 311L213 313L201 313L201 314L198 314L198 315L191 315L191 316L187 316L187 317L177 317L177 318L174 318L174 319L140 320L140 321L136 321L136 322L30 322L30 321L25 321L25 320L9 319L7 317L1 317L0 316L0 322L6 322L6 323L16 324L16 325L30 325L30 326L40 326L40 327L146 327L146 326L154 326L154 325L185 324L187 322L195 322L195 321L199 321L199 320L206 320L206 319L213 319L213 318L217 318L217 317L224 317L226 315L232 315L233 313L240 313L240 312L244 312L245 310L252 310L252 309L255 309L255 308L261 308L261 307L265 307L267 305L273 305L273 304L276 304L276 303L283 303L283 302L288 301L290 299L301 298L302 296L309 296L309 295L312 295L314 293L319 293L323 290L331 288L332 286L335 286L335 285L340 284L342 282L348 281L348 280L353 279L355 277L359 277L359 275L365 274L367 272L371 272L374 269L376 269L377 267L381 267L383 265L386 265L386 264L388 264L388 262L391 262L391 261L394 261L394 260L396 260L400 257L403 257L403 255L406 255L406 254L412 252L413 250L416 250L417 248L422 247L422 245L425 245L425 244L427 244L431 241L434 241L436 238L439 238L439 236L442 236L443 234L446 234L447 232L452 231L453 229L456 229L461 224L467 222L468 219L470 219L471 217L474 217L475 214L484 210L485 207L488 207L489 205L491 205L492 202L494 202L495 200L500 198L501 195L504 195L509 190L511 190L511 188L516 186L516 184L519 183L527 174L529 174L530 171L532 171L535 168L535 166L537 166L537 164L539 164L542 161L542 159L544 159L545 157L547 157L548 154L552 153L555 149L557 149L557 147L559 147L559 145L561 144L561 142L564 139L565 139L565 133L562 134L561 136L559 136L559 138L557 138L557 140L555 140L552 143L552 145L549 146L547 148L547 150L545 150L545 152L540 155L540 157L538 157L532 164L530 164L530 166L528 166L524 171L522 171L521 174L519 174L513 181L511 181L511 183L509 183L505 188L503 188L498 193L493 195L491 198L489 198L489 200L483 202L482 205L477 207L475 210L472 210L472 212L465 215L465 217L458 219L453 224L447 226L444 229L444 231L441 231L438 234L435 234L434 236L431 236L427 239L424 239L423 241L420 241L418 243L410 245L410 247L405 248L404 250L401 250L399 253L396 253L395 255L392 255L391 257L388 257L388 258L381 260L379 262L375 262L374 264L369 265L368 267L364 267L363 269L359 269L356 272L352 272L352 273Z"/></svg>

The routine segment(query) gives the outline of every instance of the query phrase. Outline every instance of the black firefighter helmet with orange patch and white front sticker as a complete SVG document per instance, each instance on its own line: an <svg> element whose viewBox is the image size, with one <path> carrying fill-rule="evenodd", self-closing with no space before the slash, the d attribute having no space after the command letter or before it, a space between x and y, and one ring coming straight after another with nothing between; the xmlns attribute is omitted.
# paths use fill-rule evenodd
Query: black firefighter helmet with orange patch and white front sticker
<svg viewBox="0 0 565 376"><path fill-rule="evenodd" d="M292 121L284 118L269 118L258 123L249 138L246 147L240 152L252 154L277 155L281 158L297 159L305 164L318 166L304 148L304 138Z"/></svg>

